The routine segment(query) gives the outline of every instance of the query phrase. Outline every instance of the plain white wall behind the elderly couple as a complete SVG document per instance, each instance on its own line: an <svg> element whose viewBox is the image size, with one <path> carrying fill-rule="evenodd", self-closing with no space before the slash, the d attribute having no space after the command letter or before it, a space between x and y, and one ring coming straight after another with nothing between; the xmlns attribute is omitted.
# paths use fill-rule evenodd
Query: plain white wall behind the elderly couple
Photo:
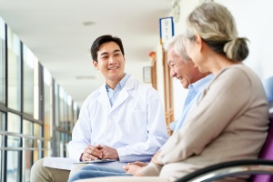
<svg viewBox="0 0 273 182"><path fill-rule="evenodd" d="M234 15L238 26L238 35L246 36L250 43L248 44L249 56L245 64L250 66L261 79L273 76L273 1L271 0L214 0L221 5L227 6L227 9ZM175 23L175 35L185 31L185 21L187 15L199 5L199 0L181 0L180 18ZM157 59L160 60L160 59ZM159 65L157 69L160 70ZM157 72L157 77L162 76ZM157 84L163 79L158 78ZM177 119L181 110L187 91L183 89L177 80L173 82L173 96L175 118ZM159 93L162 94L159 87ZM162 88L163 89L163 88ZM163 95L162 95L163 96Z"/></svg>

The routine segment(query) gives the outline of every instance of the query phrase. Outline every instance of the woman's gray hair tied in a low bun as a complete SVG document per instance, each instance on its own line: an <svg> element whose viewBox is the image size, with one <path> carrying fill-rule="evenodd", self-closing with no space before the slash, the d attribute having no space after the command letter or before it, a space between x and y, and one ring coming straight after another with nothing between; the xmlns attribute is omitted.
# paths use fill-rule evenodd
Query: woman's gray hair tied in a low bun
<svg viewBox="0 0 273 182"><path fill-rule="evenodd" d="M248 57L248 39L238 37L236 22L227 7L214 2L197 6L187 17L187 38L200 35L215 52L241 62Z"/></svg>

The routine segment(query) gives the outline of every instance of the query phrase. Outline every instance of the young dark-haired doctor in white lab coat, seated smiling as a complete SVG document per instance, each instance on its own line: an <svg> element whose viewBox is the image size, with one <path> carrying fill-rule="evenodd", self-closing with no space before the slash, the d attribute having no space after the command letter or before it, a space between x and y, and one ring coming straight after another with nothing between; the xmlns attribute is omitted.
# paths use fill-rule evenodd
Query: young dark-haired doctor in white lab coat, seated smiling
<svg viewBox="0 0 273 182"><path fill-rule="evenodd" d="M96 165L123 170L127 162L149 161L167 141L160 96L152 86L124 72L124 55L122 41L116 36L99 36L91 46L93 65L106 84L91 93L81 106L68 144L69 157L75 161L117 159ZM32 167L31 181L67 181L69 170L36 163L40 165Z"/></svg>

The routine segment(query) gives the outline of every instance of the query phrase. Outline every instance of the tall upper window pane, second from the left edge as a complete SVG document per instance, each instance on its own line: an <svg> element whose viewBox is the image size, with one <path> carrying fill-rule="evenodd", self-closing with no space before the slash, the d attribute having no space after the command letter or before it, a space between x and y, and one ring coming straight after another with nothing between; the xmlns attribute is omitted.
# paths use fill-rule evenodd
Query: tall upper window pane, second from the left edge
<svg viewBox="0 0 273 182"><path fill-rule="evenodd" d="M8 107L21 111L20 40L10 28L7 31Z"/></svg>

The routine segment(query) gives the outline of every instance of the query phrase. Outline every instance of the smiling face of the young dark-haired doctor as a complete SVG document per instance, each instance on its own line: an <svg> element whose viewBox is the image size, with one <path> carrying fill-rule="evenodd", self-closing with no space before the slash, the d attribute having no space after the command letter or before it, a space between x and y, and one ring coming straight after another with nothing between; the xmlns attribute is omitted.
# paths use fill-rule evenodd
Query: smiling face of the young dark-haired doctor
<svg viewBox="0 0 273 182"><path fill-rule="evenodd" d="M93 61L96 69L100 70L106 83L119 82L124 76L125 57L115 42L107 42L99 46L96 52L97 62Z"/></svg>

